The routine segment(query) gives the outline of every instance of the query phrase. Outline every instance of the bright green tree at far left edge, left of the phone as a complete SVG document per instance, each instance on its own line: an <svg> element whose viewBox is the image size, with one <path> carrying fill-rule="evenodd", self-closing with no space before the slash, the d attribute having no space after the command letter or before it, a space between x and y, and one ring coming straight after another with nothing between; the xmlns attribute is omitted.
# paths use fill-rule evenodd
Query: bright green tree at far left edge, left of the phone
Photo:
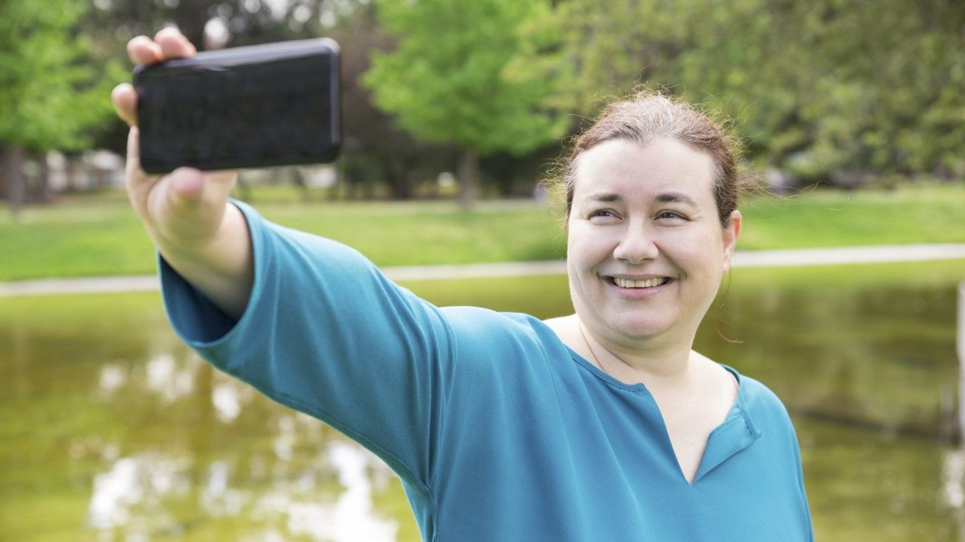
<svg viewBox="0 0 965 542"><path fill-rule="evenodd" d="M112 114L116 63L96 58L78 31L82 0L0 0L0 186L17 208L25 196L25 152L85 149Z"/></svg>

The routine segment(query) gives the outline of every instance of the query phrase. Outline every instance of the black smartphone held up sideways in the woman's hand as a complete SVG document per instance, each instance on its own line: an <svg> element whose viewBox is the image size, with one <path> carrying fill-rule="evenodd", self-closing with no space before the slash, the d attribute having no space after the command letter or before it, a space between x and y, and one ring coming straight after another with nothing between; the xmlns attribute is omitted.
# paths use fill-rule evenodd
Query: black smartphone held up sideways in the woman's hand
<svg viewBox="0 0 965 542"><path fill-rule="evenodd" d="M339 45L282 41L134 69L141 167L331 162L342 143Z"/></svg>

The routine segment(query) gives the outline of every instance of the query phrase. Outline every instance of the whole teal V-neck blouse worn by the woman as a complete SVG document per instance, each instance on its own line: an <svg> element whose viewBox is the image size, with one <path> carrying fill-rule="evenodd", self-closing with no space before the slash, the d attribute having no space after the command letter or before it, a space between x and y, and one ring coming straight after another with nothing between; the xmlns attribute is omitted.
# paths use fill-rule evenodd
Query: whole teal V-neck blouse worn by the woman
<svg viewBox="0 0 965 542"><path fill-rule="evenodd" d="M538 318L437 308L334 241L235 203L255 285L237 321L160 260L165 307L208 362L371 449L423 538L452 542L813 540L781 401L737 374L692 483L653 397Z"/></svg>

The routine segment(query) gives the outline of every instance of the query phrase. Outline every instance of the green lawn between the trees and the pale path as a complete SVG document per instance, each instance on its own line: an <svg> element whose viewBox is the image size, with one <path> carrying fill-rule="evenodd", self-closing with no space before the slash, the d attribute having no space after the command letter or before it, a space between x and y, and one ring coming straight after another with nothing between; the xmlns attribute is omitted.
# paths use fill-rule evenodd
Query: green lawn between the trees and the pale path
<svg viewBox="0 0 965 542"><path fill-rule="evenodd" d="M532 202L297 203L288 188L257 188L268 219L338 239L379 265L538 260L562 257L559 213ZM965 242L965 188L892 192L815 191L757 197L742 205L740 249ZM0 281L148 274L150 241L123 192L63 197L23 210L0 206Z"/></svg>

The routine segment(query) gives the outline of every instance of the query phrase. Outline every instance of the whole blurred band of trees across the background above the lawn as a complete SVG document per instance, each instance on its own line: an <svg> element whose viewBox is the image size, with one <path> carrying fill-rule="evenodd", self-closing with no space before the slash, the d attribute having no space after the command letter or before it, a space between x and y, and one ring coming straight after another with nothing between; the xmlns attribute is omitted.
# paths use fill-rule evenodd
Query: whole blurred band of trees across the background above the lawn
<svg viewBox="0 0 965 542"><path fill-rule="evenodd" d="M950 0L0 0L0 149L123 152L108 96L129 79L124 41L166 24L199 48L208 24L227 46L337 37L340 166L400 198L455 150L462 177L489 156L509 191L569 114L637 83L731 117L749 157L804 180L965 177Z"/></svg>

